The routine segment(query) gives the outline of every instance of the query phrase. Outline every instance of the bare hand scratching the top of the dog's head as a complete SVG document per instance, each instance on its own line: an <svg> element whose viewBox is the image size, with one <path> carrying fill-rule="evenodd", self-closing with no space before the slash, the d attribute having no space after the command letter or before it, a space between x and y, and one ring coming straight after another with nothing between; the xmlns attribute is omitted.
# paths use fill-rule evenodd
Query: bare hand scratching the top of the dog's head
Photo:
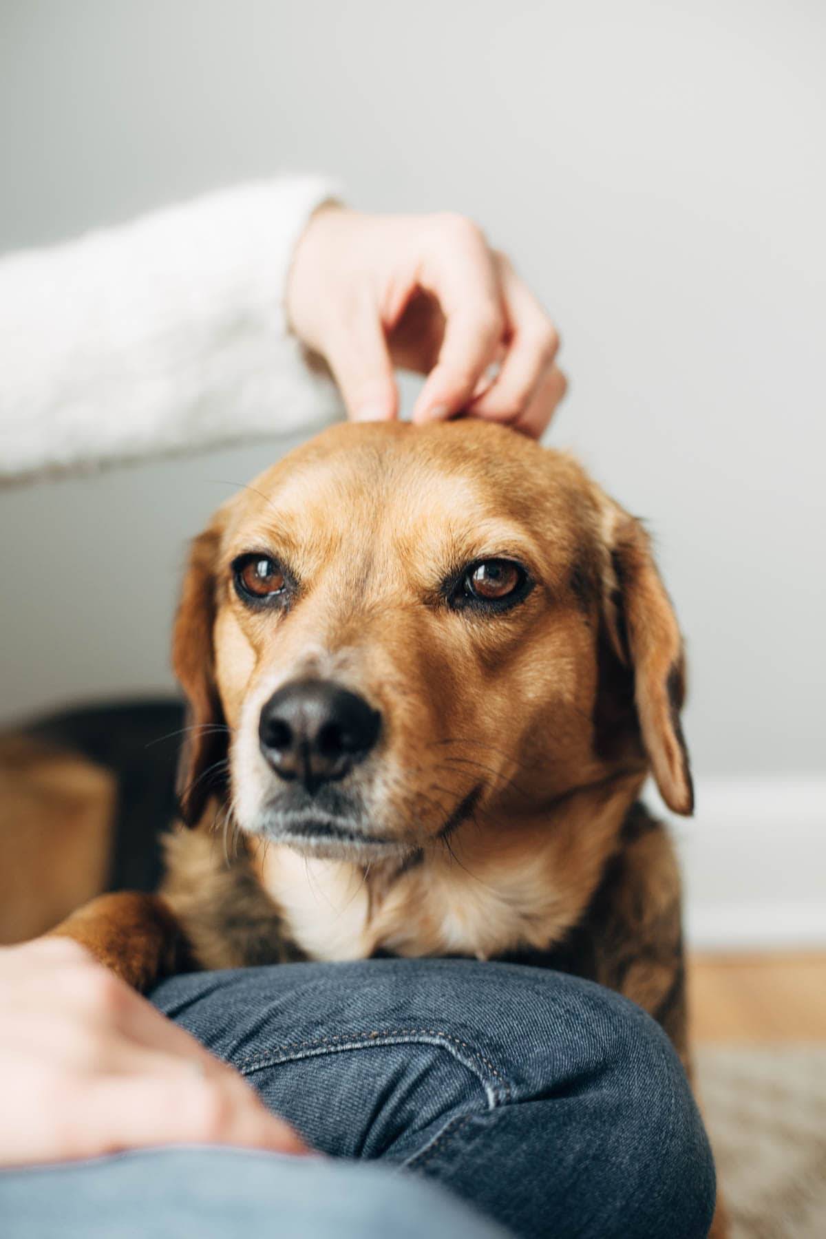
<svg viewBox="0 0 826 1239"><path fill-rule="evenodd" d="M539 437L565 395L554 323L461 216L322 207L296 247L286 307L355 420L398 416L394 366L427 374L419 422L467 413Z"/></svg>

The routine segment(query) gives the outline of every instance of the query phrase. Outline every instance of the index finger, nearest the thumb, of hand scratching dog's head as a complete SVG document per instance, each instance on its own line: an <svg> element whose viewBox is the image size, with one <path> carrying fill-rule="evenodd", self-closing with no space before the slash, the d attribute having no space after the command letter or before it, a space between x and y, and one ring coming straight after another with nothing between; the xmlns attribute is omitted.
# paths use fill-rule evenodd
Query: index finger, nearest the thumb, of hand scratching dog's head
<svg viewBox="0 0 826 1239"><path fill-rule="evenodd" d="M493 256L474 225L458 221L422 265L420 282L445 316L438 361L414 408L414 421L453 416L472 400L504 332L502 289Z"/></svg>

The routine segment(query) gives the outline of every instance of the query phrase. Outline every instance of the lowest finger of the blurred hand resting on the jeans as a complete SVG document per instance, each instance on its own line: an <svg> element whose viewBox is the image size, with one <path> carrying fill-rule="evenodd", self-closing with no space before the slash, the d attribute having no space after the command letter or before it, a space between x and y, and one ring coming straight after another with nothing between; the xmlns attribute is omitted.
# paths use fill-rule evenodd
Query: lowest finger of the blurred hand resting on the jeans
<svg viewBox="0 0 826 1239"><path fill-rule="evenodd" d="M265 1109L246 1084L188 1079L104 1079L89 1090L83 1127L105 1150L156 1144L222 1144L301 1155L301 1136ZM80 1134L82 1135L82 1134Z"/></svg>

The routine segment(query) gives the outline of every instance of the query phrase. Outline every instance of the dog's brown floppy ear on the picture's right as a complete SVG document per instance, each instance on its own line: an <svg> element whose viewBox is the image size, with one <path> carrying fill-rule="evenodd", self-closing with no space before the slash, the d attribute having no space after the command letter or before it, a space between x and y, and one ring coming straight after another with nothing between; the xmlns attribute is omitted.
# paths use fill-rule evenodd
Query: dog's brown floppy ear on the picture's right
<svg viewBox="0 0 826 1239"><path fill-rule="evenodd" d="M649 535L619 507L607 513L606 624L634 679L634 705L656 786L675 813L693 812L689 752L680 726L685 655L677 620L654 564Z"/></svg>

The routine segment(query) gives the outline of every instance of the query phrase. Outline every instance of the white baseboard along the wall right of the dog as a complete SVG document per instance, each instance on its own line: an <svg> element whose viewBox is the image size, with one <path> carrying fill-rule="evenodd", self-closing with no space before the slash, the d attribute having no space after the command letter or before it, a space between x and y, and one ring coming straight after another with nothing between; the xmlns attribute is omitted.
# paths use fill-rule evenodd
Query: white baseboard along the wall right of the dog
<svg viewBox="0 0 826 1239"><path fill-rule="evenodd" d="M826 948L826 776L700 779L671 819L698 950Z"/></svg>

